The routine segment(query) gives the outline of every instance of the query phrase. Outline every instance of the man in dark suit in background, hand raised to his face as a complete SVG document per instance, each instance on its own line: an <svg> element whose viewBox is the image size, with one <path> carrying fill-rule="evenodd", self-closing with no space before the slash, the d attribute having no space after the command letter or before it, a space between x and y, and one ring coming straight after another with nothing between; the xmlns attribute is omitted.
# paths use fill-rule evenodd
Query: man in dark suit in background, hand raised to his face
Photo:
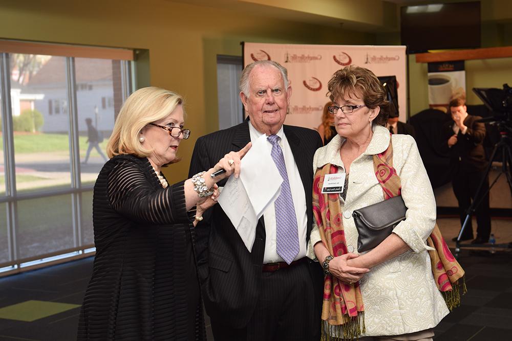
<svg viewBox="0 0 512 341"><path fill-rule="evenodd" d="M453 99L450 102L450 112L452 120L446 122L442 128L443 148L448 150L450 163L454 169L452 186L459 202L460 222L461 225L464 223L471 200L481 199L475 209L478 224L477 237L471 243L483 244L489 240L490 235L489 178L485 174L487 161L483 148L485 125L478 122L481 119L480 116L468 115L463 99ZM484 176L485 180L480 193L476 193L480 180ZM470 239L473 239L471 219L460 240ZM453 240L456 241L457 236Z"/></svg>

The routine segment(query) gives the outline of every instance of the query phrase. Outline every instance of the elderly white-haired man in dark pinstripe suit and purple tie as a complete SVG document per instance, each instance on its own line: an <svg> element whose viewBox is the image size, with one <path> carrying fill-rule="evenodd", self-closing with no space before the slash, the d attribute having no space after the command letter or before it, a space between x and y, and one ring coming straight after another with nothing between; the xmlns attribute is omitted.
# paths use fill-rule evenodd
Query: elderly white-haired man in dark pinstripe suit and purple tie
<svg viewBox="0 0 512 341"><path fill-rule="evenodd" d="M197 224L198 274L216 341L319 339L323 274L306 252L312 160L322 140L314 130L283 125L291 93L279 63L247 65L240 98L249 120L199 138L194 148L191 175L266 134L268 153L283 177L280 195L257 224L250 253L219 205Z"/></svg>

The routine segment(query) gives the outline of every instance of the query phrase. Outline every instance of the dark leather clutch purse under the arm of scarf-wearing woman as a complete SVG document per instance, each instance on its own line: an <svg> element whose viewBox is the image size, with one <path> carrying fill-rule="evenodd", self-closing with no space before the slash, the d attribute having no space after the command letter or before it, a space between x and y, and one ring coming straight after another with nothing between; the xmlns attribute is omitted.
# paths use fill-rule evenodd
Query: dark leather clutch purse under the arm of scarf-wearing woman
<svg viewBox="0 0 512 341"><path fill-rule="evenodd" d="M401 195L355 210L352 217L359 233L357 251L368 251L380 244L400 221L406 219L406 211Z"/></svg>

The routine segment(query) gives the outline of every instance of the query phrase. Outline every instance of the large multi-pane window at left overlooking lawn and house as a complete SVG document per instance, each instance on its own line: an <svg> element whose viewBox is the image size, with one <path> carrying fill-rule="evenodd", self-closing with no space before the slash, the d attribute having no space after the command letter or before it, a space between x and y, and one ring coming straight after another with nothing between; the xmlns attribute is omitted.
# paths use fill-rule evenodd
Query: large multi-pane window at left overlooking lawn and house
<svg viewBox="0 0 512 341"><path fill-rule="evenodd" d="M76 49L88 49L88 58ZM114 98L131 93L133 53L112 49L106 59L105 49L101 58L90 57L95 48L69 51L0 40L0 269L10 269L0 276L94 246L92 189L121 106ZM99 146L87 142L89 119L104 137Z"/></svg>

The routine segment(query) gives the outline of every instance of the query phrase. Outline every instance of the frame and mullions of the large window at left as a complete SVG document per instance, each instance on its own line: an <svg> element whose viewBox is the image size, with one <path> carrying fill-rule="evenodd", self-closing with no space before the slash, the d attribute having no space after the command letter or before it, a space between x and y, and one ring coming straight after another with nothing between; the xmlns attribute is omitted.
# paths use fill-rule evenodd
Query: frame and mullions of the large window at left
<svg viewBox="0 0 512 341"><path fill-rule="evenodd" d="M37 54L66 57L66 99L59 99L59 114L55 113L56 103L49 104L53 107L50 115L68 115L69 117L69 148L71 186L69 188L49 188L34 192L18 193L16 190L14 134L12 123L11 83L9 54ZM7 244L9 260L0 263L0 277L15 274L38 267L44 267L55 263L61 263L72 259L78 259L93 255L94 244L83 244L81 231L82 193L92 192L94 185L82 185L80 171L80 151L78 134L78 108L76 83L75 57L103 58L121 61L121 97L122 101L130 95L135 88L133 50L105 49L95 47L69 46L64 44L46 44L36 42L19 42L0 40L0 89L2 92L0 105L2 108L2 139L4 143L5 166L5 195L0 196L0 204L6 204ZM66 106L64 108L63 106ZM67 109L67 110L65 110ZM67 112L66 112L67 111ZM115 114L117 116L117 113ZM22 200L51 197L69 194L72 204L73 247L57 252L39 254L29 258L18 257L18 209L17 203Z"/></svg>

